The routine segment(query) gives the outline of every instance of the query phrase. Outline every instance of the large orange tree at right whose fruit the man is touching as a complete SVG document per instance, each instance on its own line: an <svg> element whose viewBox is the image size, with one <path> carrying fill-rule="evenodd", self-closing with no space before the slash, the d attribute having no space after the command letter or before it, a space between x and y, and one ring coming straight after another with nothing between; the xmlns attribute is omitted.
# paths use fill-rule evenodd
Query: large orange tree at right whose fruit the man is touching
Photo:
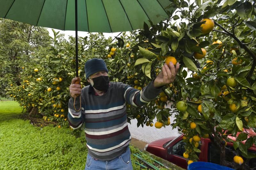
<svg viewBox="0 0 256 170"><path fill-rule="evenodd" d="M132 35L136 43L131 50L123 50L125 60L119 60L129 62L129 69L122 71L126 66L121 64L116 71L122 73L118 80L125 80L124 73L128 73L126 81L136 88L156 77L166 58L176 58L180 71L159 99L139 109L140 116L136 116L135 108L128 112L137 117L138 126L148 125L155 116L165 125L172 112L163 106L171 101L172 111L176 112L172 126L185 135L188 164L198 159L200 137L205 137L220 147L221 165L248 169L243 158L248 162L255 157L247 149L256 143L256 137L247 131L256 132L255 2L170 2L180 13L170 19L186 22L167 21L151 28L145 24L143 30ZM193 76L187 78L188 74ZM161 128L158 122L156 127ZM226 142L234 144L237 164L225 159Z"/></svg>

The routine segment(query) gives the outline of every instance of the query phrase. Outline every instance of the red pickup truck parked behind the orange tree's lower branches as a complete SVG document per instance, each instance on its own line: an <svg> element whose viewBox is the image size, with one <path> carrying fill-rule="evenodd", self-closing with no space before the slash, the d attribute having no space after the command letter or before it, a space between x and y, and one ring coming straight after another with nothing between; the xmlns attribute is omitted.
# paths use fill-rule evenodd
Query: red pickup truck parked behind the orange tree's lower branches
<svg viewBox="0 0 256 170"><path fill-rule="evenodd" d="M254 133L254 135L256 134ZM182 141L182 137L183 135L180 135L178 137L168 137L153 141L145 146L145 151L187 169L187 159L183 157L186 143ZM232 138L231 136L228 137ZM198 149L201 150L201 153L198 153L198 161L211 162L215 164L220 163L220 148L215 146L210 139L201 138ZM227 161L233 161L233 157L235 156L233 151L233 143L228 143L226 146ZM248 152L256 154L256 146L253 145L248 149ZM247 164L252 170L256 170L256 158L250 159Z"/></svg>

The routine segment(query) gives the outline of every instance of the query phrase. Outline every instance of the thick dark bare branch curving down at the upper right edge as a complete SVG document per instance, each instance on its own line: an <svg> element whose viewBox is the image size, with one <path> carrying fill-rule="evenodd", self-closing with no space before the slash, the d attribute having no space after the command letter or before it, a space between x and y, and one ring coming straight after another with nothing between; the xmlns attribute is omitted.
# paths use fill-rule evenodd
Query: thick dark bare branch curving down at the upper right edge
<svg viewBox="0 0 256 170"><path fill-rule="evenodd" d="M218 27L220 27L225 33L227 33L229 36L231 36L232 38L234 38L234 40L236 40L236 42L239 44L239 46L241 48L243 48L250 56L252 56L253 59L253 63L252 63L252 68L249 72L249 74L247 75L247 77L251 80L252 77L252 73L256 67L256 56L255 54L252 53L252 51L250 49L248 49L248 47L242 43L234 34L232 34L231 32L229 32L228 30L226 30L225 28L223 28L220 24L218 24L216 21L214 21L214 24L217 25Z"/></svg>

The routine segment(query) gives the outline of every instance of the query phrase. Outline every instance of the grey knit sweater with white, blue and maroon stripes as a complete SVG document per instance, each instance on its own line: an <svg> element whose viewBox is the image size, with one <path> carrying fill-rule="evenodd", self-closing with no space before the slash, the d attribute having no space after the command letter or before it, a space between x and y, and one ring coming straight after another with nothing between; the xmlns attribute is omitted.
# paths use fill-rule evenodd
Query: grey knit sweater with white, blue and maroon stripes
<svg viewBox="0 0 256 170"><path fill-rule="evenodd" d="M120 156L131 142L127 125L126 105L142 106L161 92L153 82L142 90L137 90L121 82L110 82L107 92L98 96L91 85L82 89L81 105L78 112L74 109L74 98L68 103L68 123L73 129L84 123L88 153L99 160L111 160ZM80 107L76 98L76 109Z"/></svg>

